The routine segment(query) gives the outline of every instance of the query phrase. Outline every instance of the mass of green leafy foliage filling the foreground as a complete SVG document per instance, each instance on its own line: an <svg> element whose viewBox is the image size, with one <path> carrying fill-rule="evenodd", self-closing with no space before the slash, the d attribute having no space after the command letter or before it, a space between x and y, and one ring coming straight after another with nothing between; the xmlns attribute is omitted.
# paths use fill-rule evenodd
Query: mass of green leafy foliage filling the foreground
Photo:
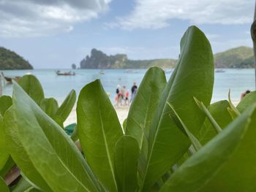
<svg viewBox="0 0 256 192"><path fill-rule="evenodd" d="M13 161L22 173L10 189L0 177L0 191L256 191L255 92L237 108L210 104L213 85L211 45L195 26L168 82L148 69L123 128L99 80L80 91L78 125L63 128L75 91L59 107L26 75L0 98L0 176Z"/></svg>

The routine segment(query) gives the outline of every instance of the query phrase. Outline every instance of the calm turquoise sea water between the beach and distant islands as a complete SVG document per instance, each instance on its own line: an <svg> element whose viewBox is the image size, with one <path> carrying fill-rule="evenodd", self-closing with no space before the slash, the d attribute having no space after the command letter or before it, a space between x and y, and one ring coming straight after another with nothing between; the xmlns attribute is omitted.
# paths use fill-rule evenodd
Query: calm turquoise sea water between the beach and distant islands
<svg viewBox="0 0 256 192"><path fill-rule="evenodd" d="M75 89L77 93L87 83L100 79L107 93L110 93L110 99L113 101L116 85L127 85L131 88L133 82L140 85L146 69L127 72L124 69L107 69L105 74L100 74L98 69L80 69L76 70L75 76L57 76L53 69L47 70L21 70L21 71L3 71L6 76L22 76L31 73L37 76L42 83L46 97L54 97L58 101L63 101L65 96ZM167 80L170 73L166 74ZM255 90L255 74L254 69L225 69L223 73L215 73L214 94L212 102L227 99L228 90L231 90L233 101L238 101L242 92ZM12 85L5 84L3 93L12 94Z"/></svg>

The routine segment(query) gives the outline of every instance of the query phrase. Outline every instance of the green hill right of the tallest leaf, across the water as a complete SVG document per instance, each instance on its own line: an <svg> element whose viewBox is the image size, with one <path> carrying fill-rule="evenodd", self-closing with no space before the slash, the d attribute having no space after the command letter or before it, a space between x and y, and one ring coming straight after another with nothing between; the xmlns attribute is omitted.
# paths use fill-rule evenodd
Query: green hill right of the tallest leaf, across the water
<svg viewBox="0 0 256 192"><path fill-rule="evenodd" d="M214 55L216 68L252 68L253 50L250 47L236 47Z"/></svg>

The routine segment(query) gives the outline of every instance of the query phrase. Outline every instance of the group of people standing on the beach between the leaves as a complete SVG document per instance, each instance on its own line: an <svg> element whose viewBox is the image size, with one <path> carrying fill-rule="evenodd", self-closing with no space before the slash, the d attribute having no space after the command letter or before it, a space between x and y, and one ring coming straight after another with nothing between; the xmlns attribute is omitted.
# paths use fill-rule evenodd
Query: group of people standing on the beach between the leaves
<svg viewBox="0 0 256 192"><path fill-rule="evenodd" d="M135 95L137 93L138 86L136 85L136 82L133 83L131 88L131 98L129 98L129 90L127 89L126 85L123 85L122 87L120 85L117 85L116 88L116 106L119 105L128 105L132 102L132 100L135 98Z"/></svg>

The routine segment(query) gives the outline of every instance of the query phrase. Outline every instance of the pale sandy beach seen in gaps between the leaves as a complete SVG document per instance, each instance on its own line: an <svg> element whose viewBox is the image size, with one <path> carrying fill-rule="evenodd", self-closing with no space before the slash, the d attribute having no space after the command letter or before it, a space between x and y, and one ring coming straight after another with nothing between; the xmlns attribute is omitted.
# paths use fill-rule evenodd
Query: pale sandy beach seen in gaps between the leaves
<svg viewBox="0 0 256 192"><path fill-rule="evenodd" d="M77 116L76 116L76 107L72 109L72 112L70 113L69 117L67 120L64 122L64 126L68 126L71 123L77 123ZM115 107L119 122L123 124L124 120L128 116L129 112L129 106L120 106L120 107Z"/></svg>

